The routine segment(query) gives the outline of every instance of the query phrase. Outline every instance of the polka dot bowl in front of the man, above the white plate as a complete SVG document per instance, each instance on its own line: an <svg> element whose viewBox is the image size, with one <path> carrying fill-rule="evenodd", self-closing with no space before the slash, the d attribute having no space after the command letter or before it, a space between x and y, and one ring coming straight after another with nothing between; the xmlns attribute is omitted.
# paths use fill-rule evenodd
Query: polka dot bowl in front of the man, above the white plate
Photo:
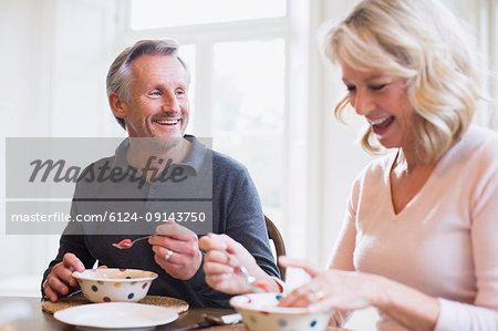
<svg viewBox="0 0 498 331"><path fill-rule="evenodd" d="M92 302L137 302L145 298L157 273L136 269L74 271L83 296Z"/></svg>

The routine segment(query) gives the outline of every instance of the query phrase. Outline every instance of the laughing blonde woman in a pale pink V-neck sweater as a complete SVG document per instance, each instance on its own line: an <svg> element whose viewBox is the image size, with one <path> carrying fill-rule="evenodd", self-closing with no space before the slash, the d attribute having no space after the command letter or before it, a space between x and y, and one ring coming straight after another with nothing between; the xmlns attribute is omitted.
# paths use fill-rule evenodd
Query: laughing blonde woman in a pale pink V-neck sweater
<svg viewBox="0 0 498 331"><path fill-rule="evenodd" d="M312 276L280 304L334 309L334 324L375 307L380 330L498 330L498 134L471 124L461 27L435 0L366 0L328 33L347 89L335 114L352 106L363 146L390 151L356 177L326 271L280 259Z"/></svg>

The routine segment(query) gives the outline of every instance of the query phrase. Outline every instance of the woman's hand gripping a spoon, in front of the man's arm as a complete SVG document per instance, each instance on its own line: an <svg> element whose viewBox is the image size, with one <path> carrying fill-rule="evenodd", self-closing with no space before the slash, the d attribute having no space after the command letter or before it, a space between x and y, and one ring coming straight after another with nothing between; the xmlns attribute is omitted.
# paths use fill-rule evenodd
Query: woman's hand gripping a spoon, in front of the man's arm
<svg viewBox="0 0 498 331"><path fill-rule="evenodd" d="M227 235L209 234L199 239L199 247L206 251L204 257L206 282L215 290L230 294L250 292L246 278L237 268L238 261L246 267L249 275L256 277L258 282L267 283L268 291L280 291L277 282L257 265L250 252ZM232 259L225 251L230 254Z"/></svg>

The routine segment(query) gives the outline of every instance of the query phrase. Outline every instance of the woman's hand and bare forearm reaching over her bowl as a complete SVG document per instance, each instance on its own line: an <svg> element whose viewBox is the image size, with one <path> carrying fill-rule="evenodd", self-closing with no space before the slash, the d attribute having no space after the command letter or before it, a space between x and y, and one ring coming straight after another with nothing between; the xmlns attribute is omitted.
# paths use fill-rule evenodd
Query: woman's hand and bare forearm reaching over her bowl
<svg viewBox="0 0 498 331"><path fill-rule="evenodd" d="M279 306L307 307L310 312L335 310L332 323L340 324L347 311L376 307L413 330L433 330L439 303L418 290L387 278L329 269L319 271L307 261L280 257L284 267L304 269L312 279L282 298Z"/></svg>

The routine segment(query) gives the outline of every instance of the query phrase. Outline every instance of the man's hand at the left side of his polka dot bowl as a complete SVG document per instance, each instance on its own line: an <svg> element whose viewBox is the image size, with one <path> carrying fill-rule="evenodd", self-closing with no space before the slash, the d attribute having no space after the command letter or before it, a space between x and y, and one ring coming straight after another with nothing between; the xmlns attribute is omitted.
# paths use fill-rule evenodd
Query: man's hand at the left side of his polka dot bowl
<svg viewBox="0 0 498 331"><path fill-rule="evenodd" d="M72 273L73 271L83 272L84 270L85 266L80 259L74 254L66 252L62 262L53 266L52 271L46 276L46 280L43 283L43 291L46 298L56 302L60 297L74 292L80 286Z"/></svg>

